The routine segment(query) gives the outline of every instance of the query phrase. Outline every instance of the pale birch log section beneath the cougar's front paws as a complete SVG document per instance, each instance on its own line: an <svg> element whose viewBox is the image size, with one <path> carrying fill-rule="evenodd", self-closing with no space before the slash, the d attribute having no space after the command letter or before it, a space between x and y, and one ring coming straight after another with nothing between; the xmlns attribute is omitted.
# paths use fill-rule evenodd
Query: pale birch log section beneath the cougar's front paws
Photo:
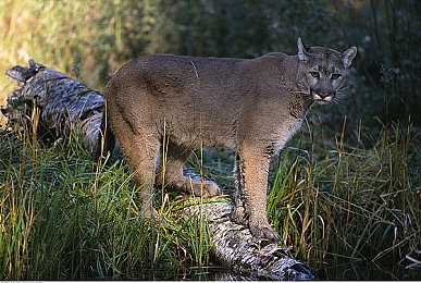
<svg viewBox="0 0 421 283"><path fill-rule="evenodd" d="M187 207L183 213L198 218L205 214L212 234L211 253L233 271L270 280L313 279L307 267L288 256L287 249L256 238L247 227L231 221L232 209L232 204L216 201Z"/></svg>

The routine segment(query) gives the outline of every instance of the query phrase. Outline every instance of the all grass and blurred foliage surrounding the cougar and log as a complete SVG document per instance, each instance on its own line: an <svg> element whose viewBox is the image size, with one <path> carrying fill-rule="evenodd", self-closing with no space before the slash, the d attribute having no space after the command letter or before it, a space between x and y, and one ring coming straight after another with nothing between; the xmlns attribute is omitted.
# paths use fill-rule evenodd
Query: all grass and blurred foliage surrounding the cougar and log
<svg viewBox="0 0 421 283"><path fill-rule="evenodd" d="M315 107L275 160L273 223L304 259L413 256L421 246L419 1L3 0L0 73L33 58L101 90L140 54L296 53L298 36L359 52L346 98ZM14 86L0 78L0 97ZM124 163L89 173L86 152L65 145L51 151L1 137L2 278L107 276L157 262L209 262L209 247L193 246L191 230L173 216L176 201L161 201L174 224L150 229L137 217ZM230 153L206 158L207 176L232 187ZM168 244L161 250L157 243Z"/></svg>

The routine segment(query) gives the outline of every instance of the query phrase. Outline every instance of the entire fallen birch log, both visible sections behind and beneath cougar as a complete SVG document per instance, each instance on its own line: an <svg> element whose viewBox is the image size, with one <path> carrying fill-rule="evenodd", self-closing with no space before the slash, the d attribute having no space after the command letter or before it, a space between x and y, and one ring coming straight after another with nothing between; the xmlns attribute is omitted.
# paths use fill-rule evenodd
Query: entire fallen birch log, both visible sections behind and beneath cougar
<svg viewBox="0 0 421 283"><path fill-rule="evenodd" d="M99 91L34 60L29 60L28 66L13 66L7 75L23 83L1 108L10 127L18 131L35 126L32 132L40 131L38 138L48 143L75 131L83 146L95 152L104 106ZM288 256L287 249L255 238L246 226L231 221L231 210L232 204L219 198L214 202L186 207L181 213L187 218L205 213L212 235L211 253L235 273L271 280L314 278L306 266Z"/></svg>

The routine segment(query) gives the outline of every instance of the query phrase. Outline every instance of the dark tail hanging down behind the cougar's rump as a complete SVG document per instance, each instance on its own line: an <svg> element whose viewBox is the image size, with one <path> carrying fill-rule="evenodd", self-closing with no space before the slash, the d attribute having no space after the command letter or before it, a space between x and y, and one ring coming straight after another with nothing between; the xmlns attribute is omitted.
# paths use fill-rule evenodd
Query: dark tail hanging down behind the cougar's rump
<svg viewBox="0 0 421 283"><path fill-rule="evenodd" d="M110 152L110 159L115 147L115 136L111 131L108 111L107 111L107 101L104 103L104 110L102 113L101 128L98 132L97 146L94 155L95 162L103 162Z"/></svg>

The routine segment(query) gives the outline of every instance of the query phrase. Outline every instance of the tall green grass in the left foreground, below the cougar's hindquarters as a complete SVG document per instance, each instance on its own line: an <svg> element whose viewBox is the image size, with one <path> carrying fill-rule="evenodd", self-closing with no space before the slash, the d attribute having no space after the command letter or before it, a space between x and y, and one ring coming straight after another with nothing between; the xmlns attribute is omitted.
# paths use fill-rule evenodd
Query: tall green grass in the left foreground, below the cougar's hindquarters
<svg viewBox="0 0 421 283"><path fill-rule="evenodd" d="M123 162L97 173L75 140L54 148L9 135L0 142L2 279L115 279L209 263L197 249L209 234L175 216L185 199L172 196L162 209L169 224L151 225Z"/></svg>

